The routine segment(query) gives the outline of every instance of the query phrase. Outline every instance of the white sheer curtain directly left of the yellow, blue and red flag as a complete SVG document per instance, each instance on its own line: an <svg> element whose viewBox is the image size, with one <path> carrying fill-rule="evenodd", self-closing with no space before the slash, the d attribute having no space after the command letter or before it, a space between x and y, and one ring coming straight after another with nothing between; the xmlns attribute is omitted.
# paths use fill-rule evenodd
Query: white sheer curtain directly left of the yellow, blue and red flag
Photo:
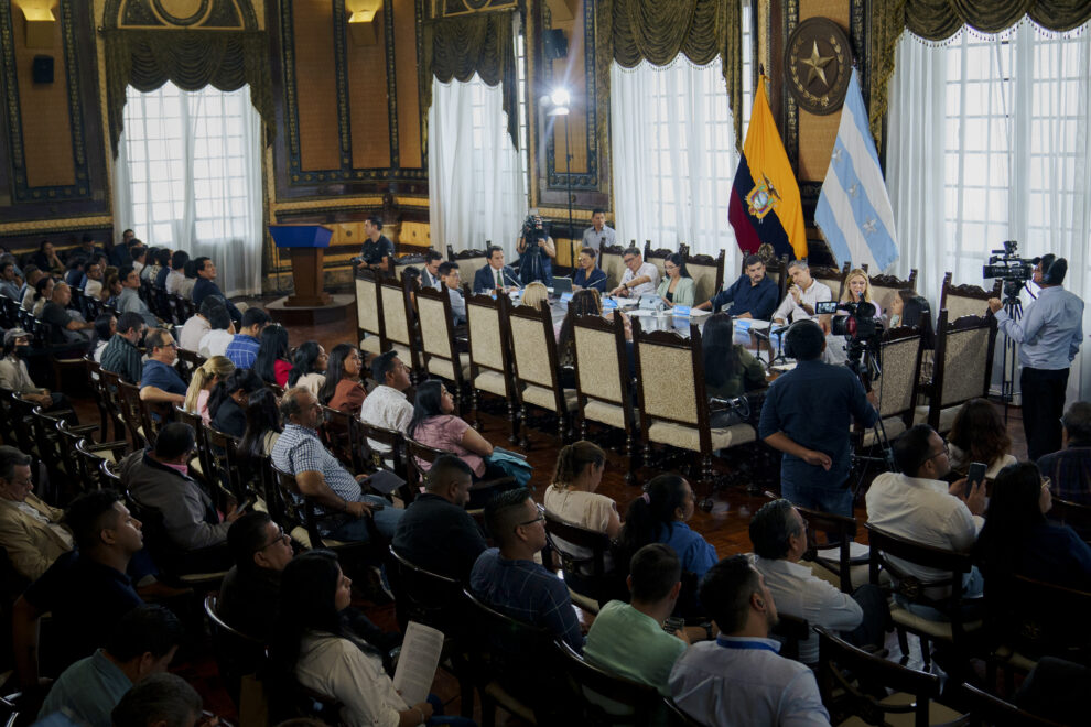
<svg viewBox="0 0 1091 727"><path fill-rule="evenodd" d="M745 75L745 74L744 74ZM611 138L617 238L691 253L727 251L726 280L739 265L727 223L738 154L720 58L696 66L611 67Z"/></svg>

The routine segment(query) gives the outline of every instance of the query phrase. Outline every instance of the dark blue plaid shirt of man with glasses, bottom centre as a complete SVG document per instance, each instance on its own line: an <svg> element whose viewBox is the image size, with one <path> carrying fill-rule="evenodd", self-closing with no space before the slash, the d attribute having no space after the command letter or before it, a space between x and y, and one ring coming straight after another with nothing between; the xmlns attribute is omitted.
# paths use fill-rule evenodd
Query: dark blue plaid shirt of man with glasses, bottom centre
<svg viewBox="0 0 1091 727"><path fill-rule="evenodd" d="M477 557L469 587L511 618L548 629L579 652L583 634L564 582L533 561L509 561L490 547Z"/></svg>

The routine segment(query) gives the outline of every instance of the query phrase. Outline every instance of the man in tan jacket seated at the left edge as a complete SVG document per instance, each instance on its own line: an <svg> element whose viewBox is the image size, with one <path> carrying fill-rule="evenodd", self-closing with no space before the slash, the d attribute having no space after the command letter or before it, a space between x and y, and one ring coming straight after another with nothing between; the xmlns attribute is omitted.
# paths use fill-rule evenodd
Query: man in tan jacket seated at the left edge
<svg viewBox="0 0 1091 727"><path fill-rule="evenodd" d="M15 447L0 446L0 547L28 580L40 578L73 545L61 524L64 512L33 493L32 463Z"/></svg>

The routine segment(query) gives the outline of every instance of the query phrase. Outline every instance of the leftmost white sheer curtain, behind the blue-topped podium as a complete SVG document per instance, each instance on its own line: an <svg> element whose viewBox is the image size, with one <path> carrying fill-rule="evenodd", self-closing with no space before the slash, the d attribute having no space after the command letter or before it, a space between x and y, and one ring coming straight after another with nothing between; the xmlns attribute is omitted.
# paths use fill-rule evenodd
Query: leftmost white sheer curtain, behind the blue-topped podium
<svg viewBox="0 0 1091 727"><path fill-rule="evenodd" d="M216 263L226 295L261 292L261 123L249 87L127 91L115 223Z"/></svg>

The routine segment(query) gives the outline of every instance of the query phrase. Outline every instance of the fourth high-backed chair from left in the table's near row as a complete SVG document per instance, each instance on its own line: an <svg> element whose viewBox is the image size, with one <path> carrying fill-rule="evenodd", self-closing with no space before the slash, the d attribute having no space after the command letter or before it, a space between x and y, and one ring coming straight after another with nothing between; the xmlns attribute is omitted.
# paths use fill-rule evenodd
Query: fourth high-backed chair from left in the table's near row
<svg viewBox="0 0 1091 727"><path fill-rule="evenodd" d="M493 299L488 295L471 295L466 299L466 330L469 336L471 404L474 422L480 426L477 415L479 391L507 400L509 441L518 441L518 404L515 388L515 369L511 364L511 328L508 325L510 302L506 295Z"/></svg>

